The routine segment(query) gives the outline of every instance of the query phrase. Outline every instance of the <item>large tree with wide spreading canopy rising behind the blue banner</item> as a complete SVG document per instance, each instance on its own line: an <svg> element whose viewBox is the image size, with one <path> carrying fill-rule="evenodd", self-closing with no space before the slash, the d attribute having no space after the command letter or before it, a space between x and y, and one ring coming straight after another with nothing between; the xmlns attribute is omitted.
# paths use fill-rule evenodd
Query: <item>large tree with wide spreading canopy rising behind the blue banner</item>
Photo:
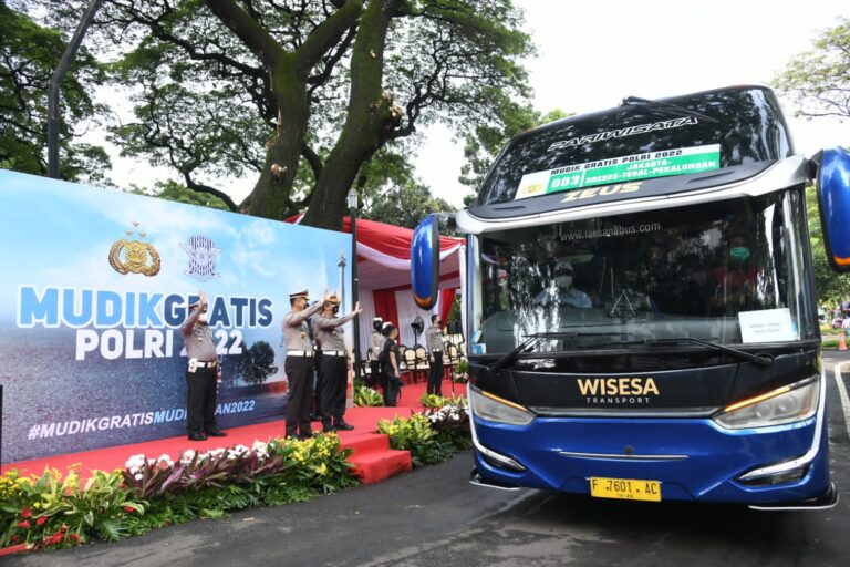
<svg viewBox="0 0 850 567"><path fill-rule="evenodd" d="M68 25L82 0L41 2ZM95 31L137 90L125 153L209 193L203 178L256 175L240 210L339 228L381 148L436 121L470 132L527 94L520 23L511 0L104 0Z"/></svg>

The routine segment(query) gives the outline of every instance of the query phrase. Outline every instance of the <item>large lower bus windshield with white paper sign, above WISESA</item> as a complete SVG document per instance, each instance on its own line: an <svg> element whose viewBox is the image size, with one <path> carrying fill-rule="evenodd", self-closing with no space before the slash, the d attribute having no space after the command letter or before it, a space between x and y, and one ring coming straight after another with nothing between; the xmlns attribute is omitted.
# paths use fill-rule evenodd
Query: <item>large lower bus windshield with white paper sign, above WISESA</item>
<svg viewBox="0 0 850 567"><path fill-rule="evenodd" d="M485 233L473 352L815 337L804 189Z"/></svg>

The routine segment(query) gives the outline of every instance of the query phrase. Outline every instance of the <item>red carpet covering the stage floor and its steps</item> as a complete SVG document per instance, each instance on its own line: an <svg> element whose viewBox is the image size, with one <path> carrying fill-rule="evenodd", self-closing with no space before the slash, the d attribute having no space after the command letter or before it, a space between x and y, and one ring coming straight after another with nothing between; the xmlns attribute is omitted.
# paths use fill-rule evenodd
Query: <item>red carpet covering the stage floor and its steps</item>
<svg viewBox="0 0 850 567"><path fill-rule="evenodd" d="M390 449L390 439L376 433L379 420L392 420L395 415L406 417L412 411L422 410L419 398L425 393L425 383L419 380L416 384L407 384L402 388L402 395L397 408L350 408L345 412L345 421L354 425L353 431L339 432L342 446L353 449L354 453L349 458L354 464L354 473L364 484L381 482L395 474L411 470L411 455L407 451L393 451ZM465 394L465 386L455 384L455 392ZM452 394L449 381L443 382L443 394ZM321 430L321 424L314 422L313 431ZM113 447L55 455L34 461L22 461L2 465L2 471L17 468L21 474L40 475L44 468L58 468L64 474L72 465L77 465L82 478L90 476L92 470L112 471L123 468L124 463L132 455L144 454L148 458L168 454L176 458L182 451L191 449L195 451L211 451L218 447L242 444L251 446L255 441L268 441L269 439L284 434L283 420L258 423L227 430L227 437L210 437L206 441L188 441L185 435L179 437L160 439L118 445Z"/></svg>

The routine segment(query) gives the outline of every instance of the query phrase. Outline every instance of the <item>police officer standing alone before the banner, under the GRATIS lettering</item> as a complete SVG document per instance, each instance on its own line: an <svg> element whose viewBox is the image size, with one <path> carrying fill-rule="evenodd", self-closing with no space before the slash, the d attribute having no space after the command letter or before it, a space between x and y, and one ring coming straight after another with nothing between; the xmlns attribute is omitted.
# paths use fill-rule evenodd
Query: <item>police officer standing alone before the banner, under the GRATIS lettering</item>
<svg viewBox="0 0 850 567"><path fill-rule="evenodd" d="M227 433L216 425L216 390L221 380L212 331L207 324L207 295L189 306L189 317L180 328L189 368L186 370L186 429L189 441L204 441L207 436L224 437Z"/></svg>

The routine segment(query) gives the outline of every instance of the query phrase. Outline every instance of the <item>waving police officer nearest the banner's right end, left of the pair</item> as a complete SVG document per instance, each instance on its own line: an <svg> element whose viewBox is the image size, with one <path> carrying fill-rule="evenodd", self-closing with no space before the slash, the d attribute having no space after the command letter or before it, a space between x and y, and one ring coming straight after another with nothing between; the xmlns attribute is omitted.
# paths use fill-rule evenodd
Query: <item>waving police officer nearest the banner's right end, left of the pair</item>
<svg viewBox="0 0 850 567"><path fill-rule="evenodd" d="M328 298L325 292L324 298ZM308 307L308 290L289 295L291 310L281 323L287 359L283 370L289 381L287 436L307 439L310 431L310 395L313 393L313 343L307 319L319 312L322 303Z"/></svg>

